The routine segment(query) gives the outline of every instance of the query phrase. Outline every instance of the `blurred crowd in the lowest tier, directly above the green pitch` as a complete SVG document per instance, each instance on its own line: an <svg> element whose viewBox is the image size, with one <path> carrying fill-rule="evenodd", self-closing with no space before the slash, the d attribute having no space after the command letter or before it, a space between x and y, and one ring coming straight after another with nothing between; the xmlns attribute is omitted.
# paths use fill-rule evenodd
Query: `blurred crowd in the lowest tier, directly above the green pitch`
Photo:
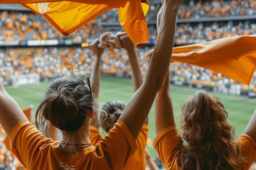
<svg viewBox="0 0 256 170"><path fill-rule="evenodd" d="M147 71L146 54L151 47L137 49L142 74ZM93 53L90 48L50 47L37 49L5 49L0 51L0 76L4 85L10 85L14 76L39 74L43 79L53 79L67 75L71 71L84 71L90 75ZM28 52L29 51L29 52ZM131 67L125 50L105 50L101 63L102 74L131 76ZM214 87L215 91L240 95L241 91L256 90L256 74L251 86L235 82L220 73L215 73L187 63L172 71L173 81L201 84Z"/></svg>

